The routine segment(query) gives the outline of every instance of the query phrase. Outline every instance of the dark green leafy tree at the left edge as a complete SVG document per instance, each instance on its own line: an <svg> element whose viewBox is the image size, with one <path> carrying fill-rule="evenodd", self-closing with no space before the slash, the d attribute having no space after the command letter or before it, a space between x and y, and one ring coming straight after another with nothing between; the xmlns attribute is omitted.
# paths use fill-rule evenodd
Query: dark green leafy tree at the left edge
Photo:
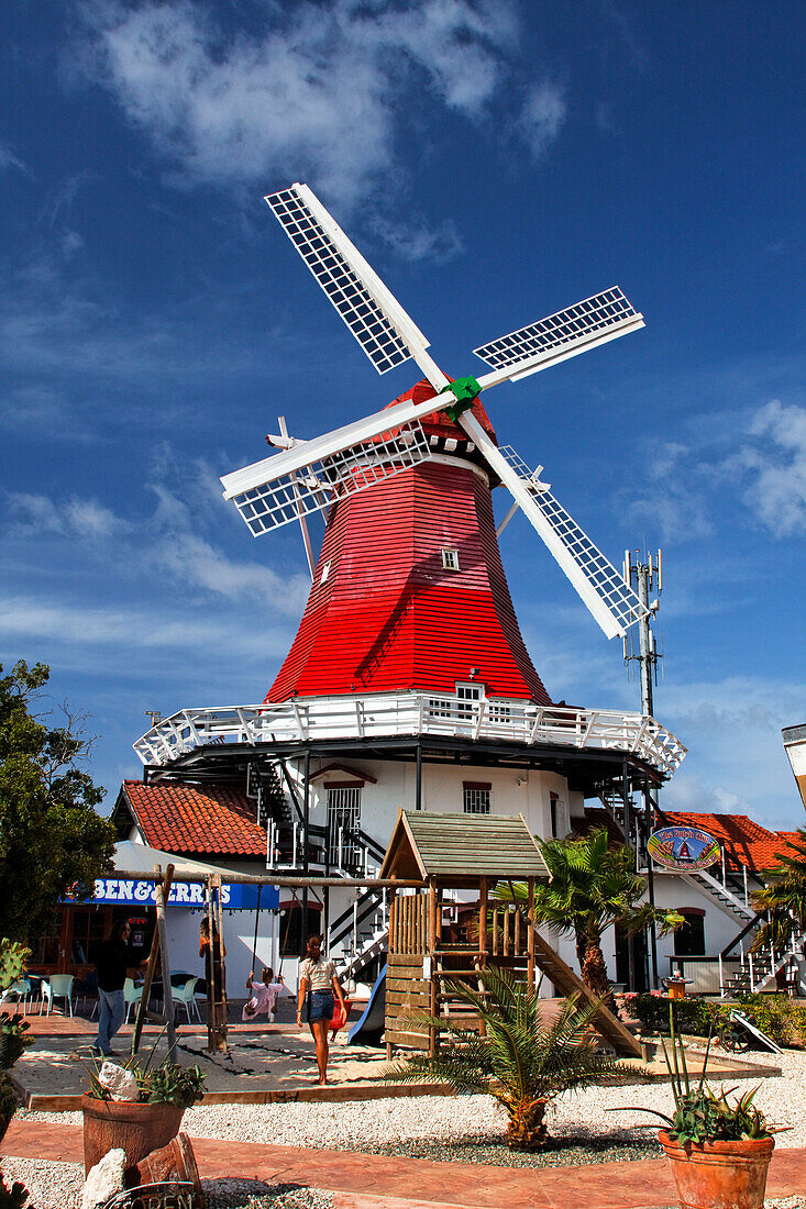
<svg viewBox="0 0 806 1209"><path fill-rule="evenodd" d="M92 895L115 843L94 809L104 791L80 767L76 721L51 727L31 713L48 677L45 664L6 676L0 666L0 936L19 941L47 932L68 892Z"/></svg>

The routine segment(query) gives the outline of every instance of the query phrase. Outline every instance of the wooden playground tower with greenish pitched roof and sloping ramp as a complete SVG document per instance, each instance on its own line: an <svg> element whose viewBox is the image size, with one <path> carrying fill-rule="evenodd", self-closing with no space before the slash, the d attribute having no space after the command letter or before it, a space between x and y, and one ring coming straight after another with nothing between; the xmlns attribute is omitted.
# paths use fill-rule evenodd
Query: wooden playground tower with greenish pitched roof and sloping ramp
<svg viewBox="0 0 806 1209"><path fill-rule="evenodd" d="M471 982L484 993L484 971L509 970L534 985L540 970L560 995L582 1002L594 996L535 927L535 880L548 869L523 815L427 815L401 811L381 868L398 885L421 879L421 886L392 892L386 970L386 1052L397 1047L439 1047L441 1029L416 1020L461 1018L480 1028L478 1017L450 991L451 982ZM490 899L499 883L526 885L526 914L514 903ZM477 891L465 903L461 926L450 891ZM472 908L472 913L467 912ZM598 1005L595 1028L616 1053L641 1058L643 1048L606 1007Z"/></svg>

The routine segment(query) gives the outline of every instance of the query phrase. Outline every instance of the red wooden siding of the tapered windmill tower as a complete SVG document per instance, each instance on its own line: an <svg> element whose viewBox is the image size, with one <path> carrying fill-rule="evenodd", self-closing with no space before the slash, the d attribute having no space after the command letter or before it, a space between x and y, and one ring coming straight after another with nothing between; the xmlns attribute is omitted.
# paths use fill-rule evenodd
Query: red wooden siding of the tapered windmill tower
<svg viewBox="0 0 806 1209"><path fill-rule="evenodd" d="M443 548L459 551L459 571L443 568ZM549 702L512 607L487 481L471 465L426 462L339 503L266 700L453 693L472 667L491 695Z"/></svg>

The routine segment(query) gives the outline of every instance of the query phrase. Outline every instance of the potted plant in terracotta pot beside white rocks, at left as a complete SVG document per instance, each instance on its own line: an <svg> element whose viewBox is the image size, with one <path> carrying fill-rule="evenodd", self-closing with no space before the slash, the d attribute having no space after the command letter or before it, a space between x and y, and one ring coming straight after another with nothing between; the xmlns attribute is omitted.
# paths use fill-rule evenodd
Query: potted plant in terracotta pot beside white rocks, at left
<svg viewBox="0 0 806 1209"><path fill-rule="evenodd" d="M137 1080L137 1100L113 1100L99 1077L102 1066L87 1068L81 1099L87 1172L115 1147L125 1151L127 1169L134 1167L151 1151L167 1146L179 1132L185 1109L201 1100L206 1076L198 1066L180 1066L167 1058L152 1069L154 1049L145 1065L136 1058L122 1064Z"/></svg>

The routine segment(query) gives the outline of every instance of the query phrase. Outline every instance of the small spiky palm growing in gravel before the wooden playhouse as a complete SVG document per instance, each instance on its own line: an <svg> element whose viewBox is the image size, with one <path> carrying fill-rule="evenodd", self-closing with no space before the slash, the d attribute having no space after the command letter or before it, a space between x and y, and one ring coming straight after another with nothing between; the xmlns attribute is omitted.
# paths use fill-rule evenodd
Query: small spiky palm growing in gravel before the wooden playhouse
<svg viewBox="0 0 806 1209"><path fill-rule="evenodd" d="M445 988L474 1008L482 1030L418 1014L413 1019L419 1025L439 1029L439 1049L433 1058L414 1054L392 1066L388 1076L491 1095L506 1109L506 1140L514 1150L545 1145L546 1109L562 1092L633 1074L609 1054L597 1053L591 1036L583 1036L597 1003L578 1008L575 997L568 999L549 1024L535 988L495 967L479 973L479 989L461 982L448 982Z"/></svg>

